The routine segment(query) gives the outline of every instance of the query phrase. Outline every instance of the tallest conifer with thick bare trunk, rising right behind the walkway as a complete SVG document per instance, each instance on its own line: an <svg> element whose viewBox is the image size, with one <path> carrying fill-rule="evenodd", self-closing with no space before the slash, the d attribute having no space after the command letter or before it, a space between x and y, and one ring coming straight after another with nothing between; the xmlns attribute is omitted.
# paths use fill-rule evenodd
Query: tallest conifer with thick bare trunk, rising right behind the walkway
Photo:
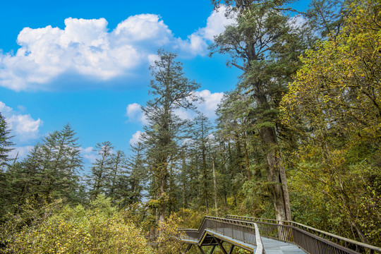
<svg viewBox="0 0 381 254"><path fill-rule="evenodd" d="M288 1L224 2L237 13L237 23L214 39L211 54L229 54L229 63L243 71L239 87L251 102L246 111L247 121L260 136L275 214L279 220L291 220L286 170L279 147L282 126L277 120L277 107L286 83L298 68L303 37L282 13L289 10L284 6ZM239 137L236 141L240 141ZM241 149L241 144L236 145L237 150Z"/></svg>

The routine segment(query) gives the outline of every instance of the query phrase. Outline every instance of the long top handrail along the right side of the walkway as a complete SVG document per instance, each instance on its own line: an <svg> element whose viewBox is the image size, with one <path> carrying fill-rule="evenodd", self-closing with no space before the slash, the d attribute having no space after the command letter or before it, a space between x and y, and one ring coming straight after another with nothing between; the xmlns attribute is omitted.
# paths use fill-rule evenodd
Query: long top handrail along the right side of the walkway
<svg viewBox="0 0 381 254"><path fill-rule="evenodd" d="M249 222L250 221L255 221L255 220L258 220L258 221L262 220L262 221L267 221L267 222L275 222L274 224L279 224L279 222L283 222L283 223L289 224L290 226L295 226L298 229L301 229L301 227L303 227L305 229L309 229L311 231L315 231L318 234L324 234L326 236L329 236L329 237L332 237L332 238L336 238L337 240L348 242L348 243L352 243L352 244L354 244L356 246L361 246L363 248L368 248L369 250L376 250L376 251L381 253L381 248L380 247L372 246L372 245L370 245L368 243L363 243L363 242L355 241L355 240L352 240L352 239L349 239L349 238L345 238L345 237L342 237L342 236L337 236L335 234L332 234L332 233L329 233L329 232L326 232L326 231L322 231L320 229L315 229L312 226L306 226L306 225L298 223L298 222L283 221L283 220L277 220L277 219L262 219L262 218L239 216L239 215L231 215L231 214L226 215L226 219L227 218L242 219L242 220L246 220L247 219ZM305 229L303 229L303 230L306 231Z"/></svg>

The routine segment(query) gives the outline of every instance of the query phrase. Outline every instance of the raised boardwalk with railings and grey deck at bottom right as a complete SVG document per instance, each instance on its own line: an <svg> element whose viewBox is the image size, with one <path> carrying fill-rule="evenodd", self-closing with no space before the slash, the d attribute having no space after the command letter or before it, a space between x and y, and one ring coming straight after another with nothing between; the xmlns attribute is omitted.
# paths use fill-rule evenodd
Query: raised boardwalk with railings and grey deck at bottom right
<svg viewBox="0 0 381 254"><path fill-rule="evenodd" d="M296 222L228 215L205 217L199 229L180 229L180 239L205 254L204 246L231 254L235 247L255 254L358 254L381 253L381 248L335 236ZM225 243L225 244L223 244ZM227 244L226 244L227 243ZM225 250L226 245L229 250Z"/></svg>

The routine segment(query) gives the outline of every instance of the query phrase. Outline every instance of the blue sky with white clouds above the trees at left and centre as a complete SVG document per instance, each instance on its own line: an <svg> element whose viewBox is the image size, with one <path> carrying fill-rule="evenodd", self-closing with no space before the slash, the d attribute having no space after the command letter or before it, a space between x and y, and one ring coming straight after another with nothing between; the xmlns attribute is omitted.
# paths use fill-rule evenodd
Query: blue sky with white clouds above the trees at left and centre
<svg viewBox="0 0 381 254"><path fill-rule="evenodd" d="M308 1L294 8L306 11ZM234 20L210 1L3 1L0 15L0 112L20 157L70 123L85 162L110 141L128 153L150 99L157 49L178 54L186 77L200 83L198 108L211 121L241 71L209 57L214 35ZM191 118L190 112L179 112Z"/></svg>

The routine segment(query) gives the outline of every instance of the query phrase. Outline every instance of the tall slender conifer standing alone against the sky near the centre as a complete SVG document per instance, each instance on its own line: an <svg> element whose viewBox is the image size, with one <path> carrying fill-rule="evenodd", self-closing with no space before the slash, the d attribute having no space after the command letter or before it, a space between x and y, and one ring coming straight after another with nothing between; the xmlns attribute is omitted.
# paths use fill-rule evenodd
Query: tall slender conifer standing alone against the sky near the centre
<svg viewBox="0 0 381 254"><path fill-rule="evenodd" d="M159 49L158 60L150 66L152 80L150 94L153 99L143 108L148 125L145 126L143 143L147 150L147 163L150 174L157 183L155 190L159 200L158 218L164 222L167 210L167 188L170 167L179 153L179 140L185 121L174 114L176 109L193 109L193 91L199 87L193 80L188 80L183 67L176 61L176 54Z"/></svg>

